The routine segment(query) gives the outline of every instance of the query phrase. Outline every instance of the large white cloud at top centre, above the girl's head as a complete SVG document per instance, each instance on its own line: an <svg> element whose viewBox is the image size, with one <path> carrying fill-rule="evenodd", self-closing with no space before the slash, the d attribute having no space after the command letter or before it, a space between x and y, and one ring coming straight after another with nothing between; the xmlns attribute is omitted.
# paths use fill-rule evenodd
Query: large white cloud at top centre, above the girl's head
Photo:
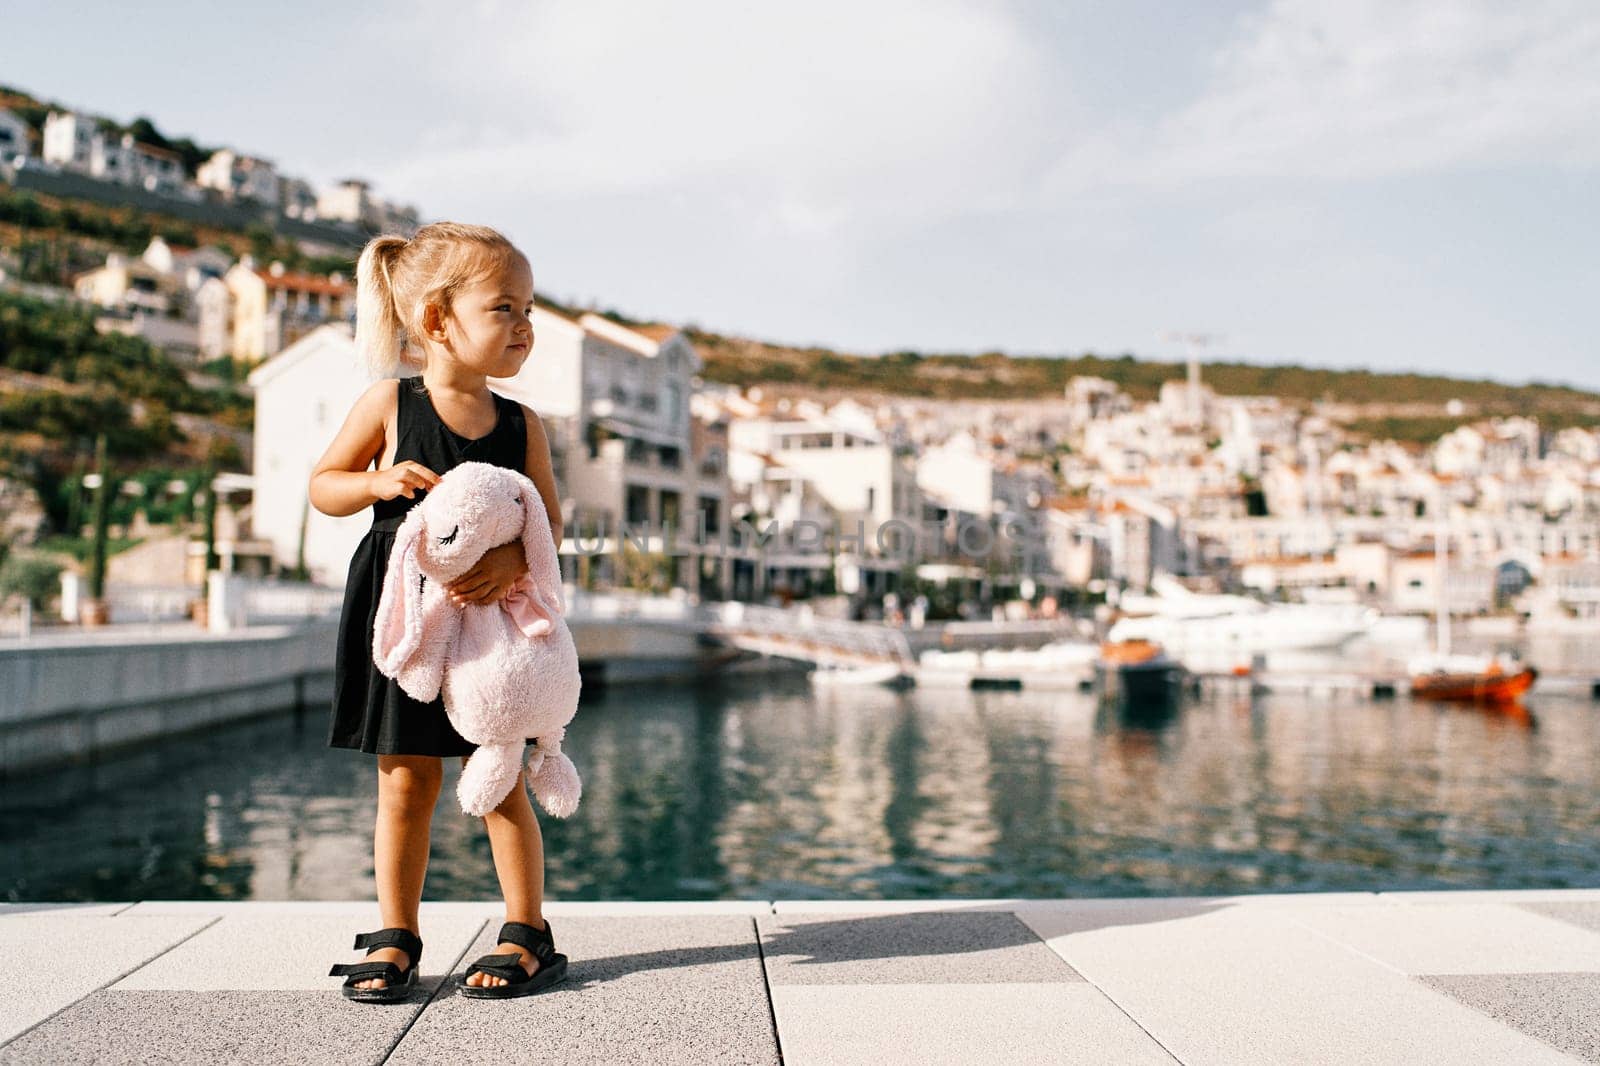
<svg viewBox="0 0 1600 1066"><path fill-rule="evenodd" d="M1010 205L1042 165L1046 58L1005 8L955 0L478 5L418 11L462 114L397 186L550 200L693 190L757 230L816 235ZM406 30L402 30L402 37ZM437 72L435 72L437 70ZM459 75L456 75L459 77Z"/></svg>

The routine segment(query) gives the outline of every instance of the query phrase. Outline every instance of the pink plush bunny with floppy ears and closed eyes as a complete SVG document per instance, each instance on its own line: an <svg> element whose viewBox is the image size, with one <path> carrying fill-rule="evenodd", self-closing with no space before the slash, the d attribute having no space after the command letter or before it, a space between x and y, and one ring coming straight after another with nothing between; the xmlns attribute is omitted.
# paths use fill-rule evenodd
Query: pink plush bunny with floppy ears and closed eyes
<svg viewBox="0 0 1600 1066"><path fill-rule="evenodd" d="M456 607L445 586L496 544L522 538L528 573L498 603ZM478 746L461 771L461 810L485 815L517 783L526 738L528 784L557 818L582 783L562 754L578 712L578 648L562 613L550 522L533 482L490 463L462 463L411 507L395 533L378 599L373 663L421 701L440 688L450 723Z"/></svg>

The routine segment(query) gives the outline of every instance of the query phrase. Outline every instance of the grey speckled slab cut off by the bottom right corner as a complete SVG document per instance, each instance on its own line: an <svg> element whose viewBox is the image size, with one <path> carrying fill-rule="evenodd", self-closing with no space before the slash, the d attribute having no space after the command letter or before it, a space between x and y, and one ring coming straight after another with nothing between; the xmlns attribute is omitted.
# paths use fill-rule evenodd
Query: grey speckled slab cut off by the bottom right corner
<svg viewBox="0 0 1600 1066"><path fill-rule="evenodd" d="M1600 973L1478 973L1422 981L1581 1061L1600 1063Z"/></svg>

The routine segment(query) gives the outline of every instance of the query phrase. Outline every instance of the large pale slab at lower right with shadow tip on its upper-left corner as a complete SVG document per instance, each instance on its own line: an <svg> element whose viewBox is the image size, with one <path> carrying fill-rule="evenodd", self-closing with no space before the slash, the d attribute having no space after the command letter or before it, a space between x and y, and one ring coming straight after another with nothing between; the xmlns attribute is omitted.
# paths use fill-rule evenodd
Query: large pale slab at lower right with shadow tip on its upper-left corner
<svg viewBox="0 0 1600 1066"><path fill-rule="evenodd" d="M1189 1066L1571 1061L1307 928L1298 909L1173 900L1019 917Z"/></svg>

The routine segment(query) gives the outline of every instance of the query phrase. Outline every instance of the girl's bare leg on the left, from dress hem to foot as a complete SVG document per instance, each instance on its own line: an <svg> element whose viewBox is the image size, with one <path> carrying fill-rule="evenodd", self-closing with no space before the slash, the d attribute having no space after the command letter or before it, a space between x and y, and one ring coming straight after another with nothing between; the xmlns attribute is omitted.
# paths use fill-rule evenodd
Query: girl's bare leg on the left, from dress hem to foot
<svg viewBox="0 0 1600 1066"><path fill-rule="evenodd" d="M437 755L378 755L378 824L373 829L373 874L378 880L378 911L384 928L421 933L418 908L422 877L427 874L429 829L434 805L445 779L445 763ZM379 948L371 962L411 965L398 948ZM357 988L384 988L382 978L357 981Z"/></svg>

